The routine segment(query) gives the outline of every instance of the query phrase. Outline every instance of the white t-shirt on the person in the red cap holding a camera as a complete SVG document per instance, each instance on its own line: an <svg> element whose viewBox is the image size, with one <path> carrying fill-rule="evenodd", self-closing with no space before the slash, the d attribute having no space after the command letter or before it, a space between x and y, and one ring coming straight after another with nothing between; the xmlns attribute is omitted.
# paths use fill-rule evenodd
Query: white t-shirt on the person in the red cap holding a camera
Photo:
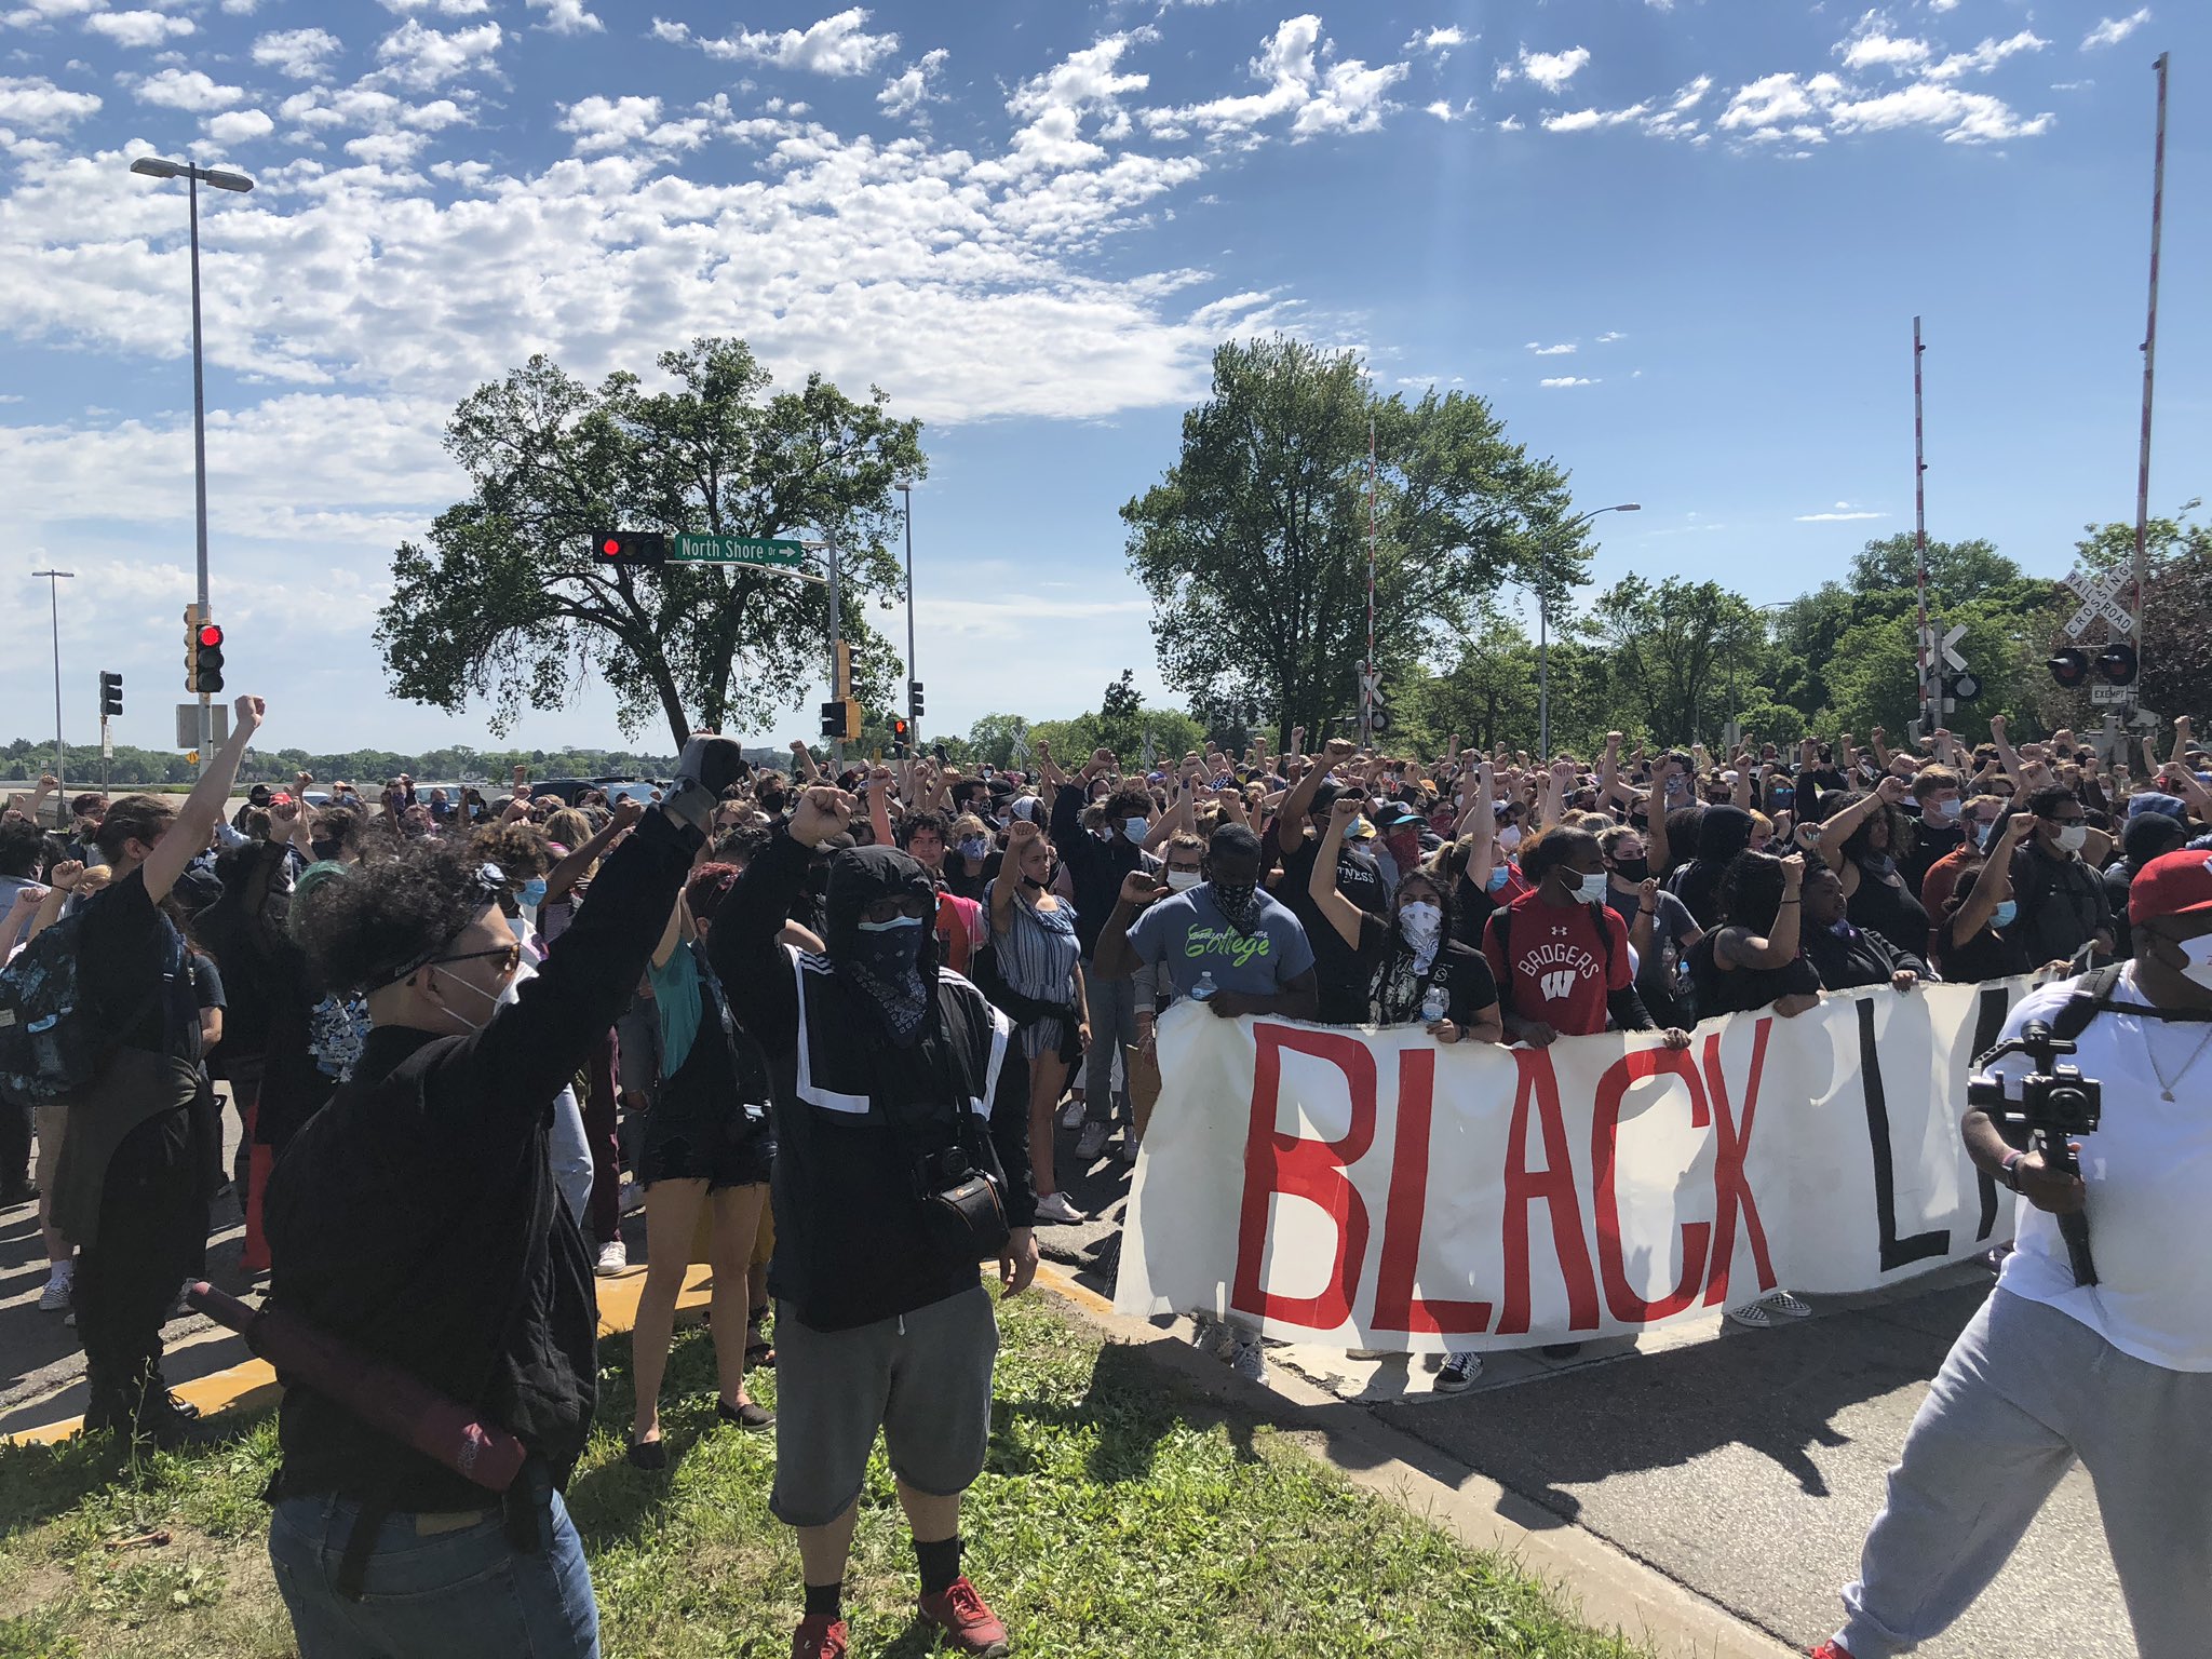
<svg viewBox="0 0 2212 1659"><path fill-rule="evenodd" d="M2055 1020L2075 980L2026 995L2004 1024ZM2117 1006L2148 1006L2130 967L2062 1062L2104 1084L2104 1119L2081 1139L2088 1183L2088 1243L2097 1285L2077 1285L2057 1217L2026 1197L2013 1201L2015 1250L2002 1283L2015 1296L2057 1307L2121 1354L2168 1371L2212 1371L2212 1272L2205 1261L2205 1194L2212 1192L2212 1022L2146 1020ZM2203 1046L2203 1055L2190 1064ZM2150 1057L2157 1055L2157 1071ZM2020 1095L2031 1064L2008 1055L1995 1068ZM2166 1099L2159 1073L2177 1084Z"/></svg>

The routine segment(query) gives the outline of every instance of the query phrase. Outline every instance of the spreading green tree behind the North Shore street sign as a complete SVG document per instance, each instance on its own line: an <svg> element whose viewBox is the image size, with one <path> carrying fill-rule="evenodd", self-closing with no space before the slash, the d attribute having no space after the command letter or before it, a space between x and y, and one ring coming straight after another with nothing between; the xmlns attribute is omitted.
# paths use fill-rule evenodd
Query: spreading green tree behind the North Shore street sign
<svg viewBox="0 0 2212 1659"><path fill-rule="evenodd" d="M821 586L743 564L602 566L586 538L619 524L836 538L856 695L887 701L898 659L865 602L900 591L891 482L925 471L920 422L818 374L772 394L743 341L701 338L657 365L666 392L628 372L591 389L533 356L462 398L447 451L471 493L427 544L400 544L378 613L396 695L449 712L487 699L502 732L599 675L624 730L659 714L681 745L695 726L768 721L823 677Z"/></svg>

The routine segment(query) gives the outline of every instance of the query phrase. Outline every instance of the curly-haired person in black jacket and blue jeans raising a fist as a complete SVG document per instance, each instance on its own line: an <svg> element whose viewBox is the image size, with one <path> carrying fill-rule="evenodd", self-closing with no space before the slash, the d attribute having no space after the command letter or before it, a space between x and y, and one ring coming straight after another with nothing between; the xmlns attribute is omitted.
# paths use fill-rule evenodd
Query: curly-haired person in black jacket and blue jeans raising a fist
<svg viewBox="0 0 2212 1659"><path fill-rule="evenodd" d="M507 872L429 836L310 885L314 971L372 1029L268 1188L272 1296L522 1440L502 1495L292 1380L270 1562L305 1659L597 1655L591 1571L560 1500L597 1398L591 1259L555 1192L551 1102L653 956L737 743L695 737L677 787L513 1002Z"/></svg>

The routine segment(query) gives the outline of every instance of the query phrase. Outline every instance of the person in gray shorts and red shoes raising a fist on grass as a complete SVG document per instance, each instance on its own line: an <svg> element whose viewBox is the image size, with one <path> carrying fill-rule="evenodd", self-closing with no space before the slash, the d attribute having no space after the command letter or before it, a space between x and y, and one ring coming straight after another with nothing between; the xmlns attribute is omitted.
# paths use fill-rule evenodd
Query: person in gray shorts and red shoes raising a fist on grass
<svg viewBox="0 0 2212 1659"><path fill-rule="evenodd" d="M827 951L779 945L814 849L854 796L810 787L745 867L708 936L730 1006L768 1055L776 1164L776 1484L799 1531L796 1659L841 1659L845 1562L883 1429L914 1526L920 1617L969 1655L1006 1628L960 1571L960 1493L991 1440L998 1318L1037 1272L1029 1066L982 993L936 962L936 885L894 847L843 847Z"/></svg>

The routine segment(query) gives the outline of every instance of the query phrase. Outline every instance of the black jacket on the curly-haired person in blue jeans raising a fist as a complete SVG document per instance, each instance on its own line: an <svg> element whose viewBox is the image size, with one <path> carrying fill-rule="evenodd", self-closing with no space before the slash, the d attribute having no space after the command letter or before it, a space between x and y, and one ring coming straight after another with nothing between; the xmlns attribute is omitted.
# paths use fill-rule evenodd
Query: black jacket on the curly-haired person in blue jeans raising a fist
<svg viewBox="0 0 2212 1659"><path fill-rule="evenodd" d="M699 834L648 812L511 1006L465 1037L378 1026L292 1139L263 1208L272 1296L414 1374L544 1458L560 1486L591 1429L597 1305L553 1186L553 1097L628 1006ZM272 1495L482 1509L482 1486L285 1380Z"/></svg>

